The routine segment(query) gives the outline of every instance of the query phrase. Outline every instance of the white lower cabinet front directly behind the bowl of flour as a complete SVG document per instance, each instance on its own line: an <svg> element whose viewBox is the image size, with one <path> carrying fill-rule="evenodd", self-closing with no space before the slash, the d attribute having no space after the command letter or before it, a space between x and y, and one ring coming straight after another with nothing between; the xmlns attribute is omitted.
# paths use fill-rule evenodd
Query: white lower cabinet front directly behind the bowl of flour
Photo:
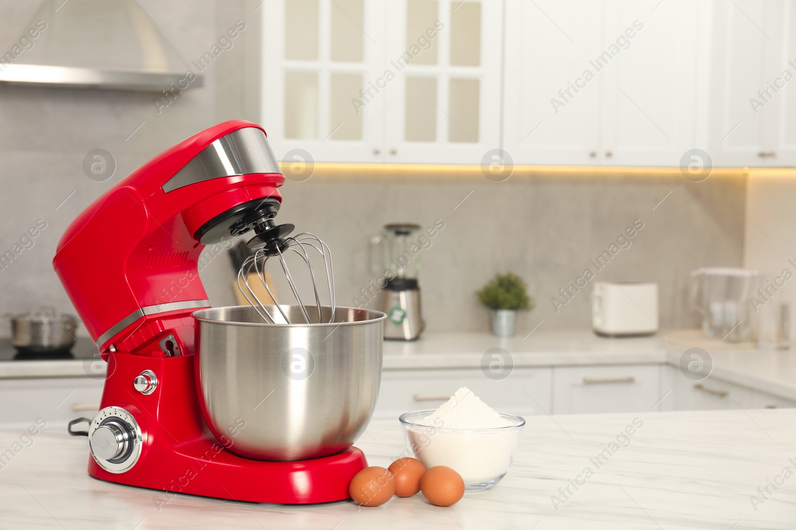
<svg viewBox="0 0 796 530"><path fill-rule="evenodd" d="M552 369L516 368L494 380L480 369L384 370L374 419L433 409L466 386L497 412L533 415L551 412Z"/></svg>

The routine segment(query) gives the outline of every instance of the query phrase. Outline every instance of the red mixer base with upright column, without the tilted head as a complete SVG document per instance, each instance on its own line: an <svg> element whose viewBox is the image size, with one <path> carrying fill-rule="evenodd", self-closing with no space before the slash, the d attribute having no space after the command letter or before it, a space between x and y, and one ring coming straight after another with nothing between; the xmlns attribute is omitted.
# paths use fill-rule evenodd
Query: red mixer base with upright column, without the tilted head
<svg viewBox="0 0 796 530"><path fill-rule="evenodd" d="M108 482L157 489L154 498L158 506L177 493L279 504L350 498L351 479L368 466L357 447L339 455L295 462L250 460L225 449L235 443L236 434L231 431L219 441L205 427L193 363L193 355L110 354L100 406L123 408L135 418L142 433L142 451L135 465L123 473L104 470L89 456L88 474ZM143 369L152 370L159 381L149 396L132 385Z"/></svg>

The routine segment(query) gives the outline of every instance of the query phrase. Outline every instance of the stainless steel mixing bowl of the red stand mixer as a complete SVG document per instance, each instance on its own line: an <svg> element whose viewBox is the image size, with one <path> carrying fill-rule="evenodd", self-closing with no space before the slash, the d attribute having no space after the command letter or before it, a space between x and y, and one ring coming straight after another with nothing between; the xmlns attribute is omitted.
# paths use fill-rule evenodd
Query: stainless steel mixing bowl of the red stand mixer
<svg viewBox="0 0 796 530"><path fill-rule="evenodd" d="M302 321L298 306L281 308ZM307 311L317 319L316 308ZM322 321L329 311L322 308ZM240 306L193 318L202 414L229 451L257 460L320 458L345 451L365 431L379 395L384 313L336 308L334 323L267 324Z"/></svg>

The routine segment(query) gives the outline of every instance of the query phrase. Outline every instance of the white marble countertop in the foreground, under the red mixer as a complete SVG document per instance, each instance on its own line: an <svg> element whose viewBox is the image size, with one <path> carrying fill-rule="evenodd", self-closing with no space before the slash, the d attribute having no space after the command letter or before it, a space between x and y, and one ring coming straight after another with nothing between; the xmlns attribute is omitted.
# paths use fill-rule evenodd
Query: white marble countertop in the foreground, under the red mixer
<svg viewBox="0 0 796 530"><path fill-rule="evenodd" d="M634 418L642 427L598 468L591 458ZM529 417L509 474L447 509L422 494L377 508L352 502L259 505L119 486L86 472L88 442L45 428L0 469L3 528L748 528L792 529L796 520L796 409L646 412ZM638 423L638 420L637 420ZM0 432L0 453L20 432ZM404 449L396 420L374 421L357 443L371 465ZM794 458L794 460L790 460ZM594 475L579 478L585 468ZM267 477L263 477L267 480ZM582 486L565 498L560 488ZM793 481L793 483L791 483ZM771 494L758 497L758 488ZM764 492L765 493L765 492ZM552 496L564 501L553 506Z"/></svg>

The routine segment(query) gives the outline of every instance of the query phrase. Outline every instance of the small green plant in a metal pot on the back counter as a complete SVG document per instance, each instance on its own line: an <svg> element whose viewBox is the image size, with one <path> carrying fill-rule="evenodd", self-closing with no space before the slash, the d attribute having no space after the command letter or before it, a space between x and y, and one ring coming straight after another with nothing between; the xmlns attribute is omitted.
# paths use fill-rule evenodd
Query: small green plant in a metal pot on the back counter
<svg viewBox="0 0 796 530"><path fill-rule="evenodd" d="M492 335L497 337L513 337L517 311L530 311L534 307L525 280L514 273L497 274L475 294L479 302L490 308Z"/></svg>

